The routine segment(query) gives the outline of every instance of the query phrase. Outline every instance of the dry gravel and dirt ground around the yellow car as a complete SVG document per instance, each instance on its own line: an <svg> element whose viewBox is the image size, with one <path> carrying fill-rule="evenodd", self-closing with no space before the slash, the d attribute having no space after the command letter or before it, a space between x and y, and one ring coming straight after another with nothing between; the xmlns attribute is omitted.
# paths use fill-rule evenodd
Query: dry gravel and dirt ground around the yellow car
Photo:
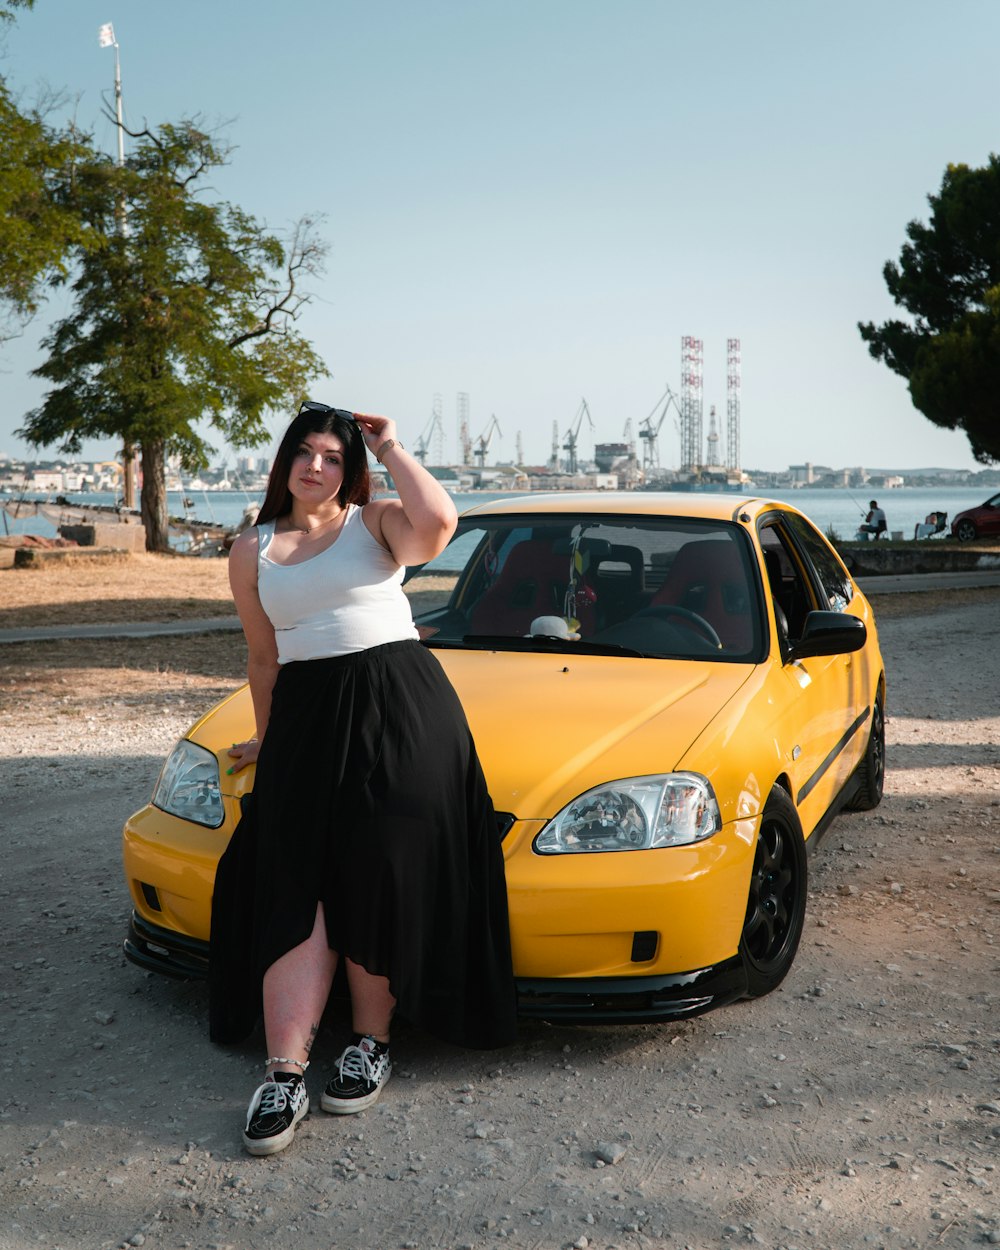
<svg viewBox="0 0 1000 1250"><path fill-rule="evenodd" d="M260 1039L211 1046L205 988L121 955L122 820L241 636L0 646L0 1248L1000 1244L1000 590L874 604L886 796L814 852L779 991L486 1054L401 1021L379 1104L270 1160ZM0 571L0 628L230 614L224 561Z"/></svg>

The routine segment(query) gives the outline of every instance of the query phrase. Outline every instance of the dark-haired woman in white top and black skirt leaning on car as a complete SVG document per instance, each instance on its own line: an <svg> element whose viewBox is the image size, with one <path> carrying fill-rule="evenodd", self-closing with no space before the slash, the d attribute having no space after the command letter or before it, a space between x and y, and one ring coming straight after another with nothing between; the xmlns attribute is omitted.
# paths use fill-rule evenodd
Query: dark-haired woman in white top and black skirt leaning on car
<svg viewBox="0 0 1000 1250"><path fill-rule="evenodd" d="M368 450L398 499L371 500ZM455 506L395 424L302 404L254 529L230 552L249 649L254 794L219 864L211 1036L239 1041L262 1010L255 1155L309 1110L304 1075L339 960L354 1040L320 1105L370 1106L389 1079L399 1004L459 1045L515 1035L502 855L455 691L418 641L405 565L438 555Z"/></svg>

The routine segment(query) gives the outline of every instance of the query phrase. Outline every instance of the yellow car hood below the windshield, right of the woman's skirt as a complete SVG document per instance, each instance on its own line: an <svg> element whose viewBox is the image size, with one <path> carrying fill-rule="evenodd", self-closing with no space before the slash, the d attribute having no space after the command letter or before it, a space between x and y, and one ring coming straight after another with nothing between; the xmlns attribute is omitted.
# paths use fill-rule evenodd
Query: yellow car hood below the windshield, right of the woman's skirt
<svg viewBox="0 0 1000 1250"><path fill-rule="evenodd" d="M465 708L494 805L545 820L578 794L669 772L750 664L511 651L434 652Z"/></svg>

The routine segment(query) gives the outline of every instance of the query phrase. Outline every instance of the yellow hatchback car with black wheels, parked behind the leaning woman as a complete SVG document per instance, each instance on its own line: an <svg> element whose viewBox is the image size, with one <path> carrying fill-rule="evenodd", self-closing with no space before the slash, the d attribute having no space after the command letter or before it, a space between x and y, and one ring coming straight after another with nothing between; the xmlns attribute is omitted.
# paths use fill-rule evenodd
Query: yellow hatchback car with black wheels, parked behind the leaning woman
<svg viewBox="0 0 1000 1250"><path fill-rule="evenodd" d="M808 848L885 771L875 620L815 526L730 494L511 498L465 512L406 590L498 810L521 1014L649 1021L772 990ZM205 972L252 785L226 750L251 732L244 688L125 826L142 968Z"/></svg>

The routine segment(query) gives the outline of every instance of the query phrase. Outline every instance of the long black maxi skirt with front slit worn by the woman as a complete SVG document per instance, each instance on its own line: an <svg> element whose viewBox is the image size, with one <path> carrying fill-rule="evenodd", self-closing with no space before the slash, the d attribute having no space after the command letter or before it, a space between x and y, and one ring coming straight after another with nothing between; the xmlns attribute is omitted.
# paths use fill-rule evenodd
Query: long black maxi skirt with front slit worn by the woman
<svg viewBox="0 0 1000 1250"><path fill-rule="evenodd" d="M282 665L254 791L219 864L210 1036L261 1014L264 972L312 932L420 1029L492 1048L516 1032L506 885L458 695L418 641Z"/></svg>

